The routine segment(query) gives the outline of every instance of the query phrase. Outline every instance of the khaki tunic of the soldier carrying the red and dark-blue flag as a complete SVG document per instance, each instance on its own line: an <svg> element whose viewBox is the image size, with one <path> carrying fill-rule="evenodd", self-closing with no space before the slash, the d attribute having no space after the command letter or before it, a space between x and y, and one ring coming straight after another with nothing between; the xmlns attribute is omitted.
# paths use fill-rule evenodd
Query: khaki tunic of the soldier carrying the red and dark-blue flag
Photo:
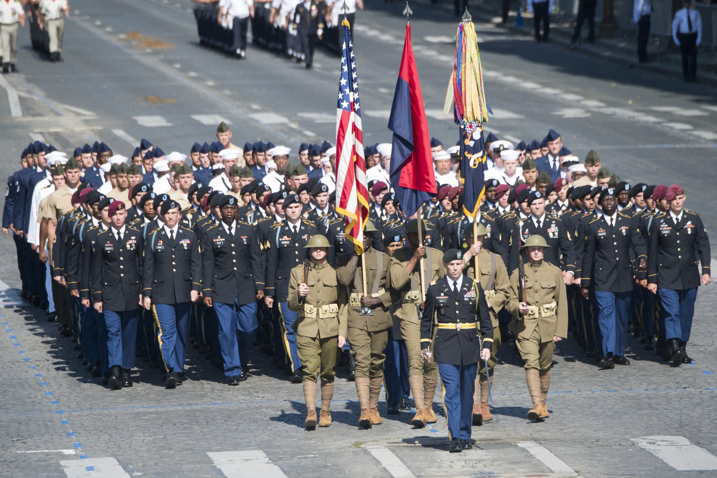
<svg viewBox="0 0 717 478"><path fill-rule="evenodd" d="M424 291L428 290L428 285L435 284L438 279L446 274L446 269L443 267L443 252L433 247L427 247L426 256L428 256L428 249L430 249L431 264L428 264L428 259L426 258L425 274L426 277L430 277L430 279L428 284L424 285ZM401 297L404 297L404 292L421 290L421 264L416 264L411 275L408 274L408 270L406 269L411 257L413 257L413 253L410 249L406 248L397 249L397 251L394 252L394 257L391 257L391 285L395 290L399 290ZM421 317L418 316L416 303L417 302L404 303L404 301L401 300L401 304L399 307L396 307L394 314L399 319L417 324L421 321Z"/></svg>

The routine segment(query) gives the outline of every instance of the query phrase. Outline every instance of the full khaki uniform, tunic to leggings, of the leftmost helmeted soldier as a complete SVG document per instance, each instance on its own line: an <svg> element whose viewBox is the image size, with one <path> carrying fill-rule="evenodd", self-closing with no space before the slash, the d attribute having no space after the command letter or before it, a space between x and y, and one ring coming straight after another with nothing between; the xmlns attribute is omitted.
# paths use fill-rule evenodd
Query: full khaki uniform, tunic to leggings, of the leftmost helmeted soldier
<svg viewBox="0 0 717 478"><path fill-rule="evenodd" d="M316 408L316 381L321 377L321 411L328 412L333 397L333 368L338 355L338 336L346 337L348 298L346 287L338 285L336 269L327 263L309 264L306 285L309 293L299 302L298 286L303 282L303 264L291 269L290 310L299 317L292 325L304 376L306 408Z"/></svg>

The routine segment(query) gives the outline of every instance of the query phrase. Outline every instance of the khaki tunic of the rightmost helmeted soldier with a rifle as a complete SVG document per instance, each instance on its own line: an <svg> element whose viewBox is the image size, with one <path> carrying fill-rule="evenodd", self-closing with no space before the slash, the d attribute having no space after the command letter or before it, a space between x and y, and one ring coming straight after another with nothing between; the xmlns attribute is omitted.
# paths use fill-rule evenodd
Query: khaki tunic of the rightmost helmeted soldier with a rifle
<svg viewBox="0 0 717 478"><path fill-rule="evenodd" d="M480 266L480 264L479 264ZM540 329L541 343L551 342L553 336L568 337L568 301L565 292L565 282L560 269L553 264L541 261L538 264L525 264L526 272L526 300L528 306L535 305L541 309L542 305L555 302L556 313L548 317L528 318L519 317L518 304L518 269L511 275L511 297L505 308L513 315L513 321L508 328L518 335L518 338L530 338L536 326ZM542 312L542 310L541 310Z"/></svg>

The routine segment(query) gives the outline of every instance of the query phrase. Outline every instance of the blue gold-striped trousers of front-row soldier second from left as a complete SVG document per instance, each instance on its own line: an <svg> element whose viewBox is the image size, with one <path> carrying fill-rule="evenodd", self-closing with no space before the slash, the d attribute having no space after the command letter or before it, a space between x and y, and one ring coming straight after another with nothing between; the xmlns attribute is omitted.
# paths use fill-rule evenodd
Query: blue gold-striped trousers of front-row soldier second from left
<svg viewBox="0 0 717 478"><path fill-rule="evenodd" d="M184 371L190 307L191 302L152 305L159 350L168 372Z"/></svg>

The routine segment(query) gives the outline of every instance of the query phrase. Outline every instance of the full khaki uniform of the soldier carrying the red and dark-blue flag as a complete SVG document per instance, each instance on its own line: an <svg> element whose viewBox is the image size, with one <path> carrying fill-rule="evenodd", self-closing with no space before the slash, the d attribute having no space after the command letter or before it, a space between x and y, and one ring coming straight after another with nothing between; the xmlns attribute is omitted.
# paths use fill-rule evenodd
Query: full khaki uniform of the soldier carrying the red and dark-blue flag
<svg viewBox="0 0 717 478"><path fill-rule="evenodd" d="M416 411L426 410L432 413L433 396L438 383L438 365L431 357L429 363L424 363L421 356L421 317L418 315L417 305L422 302L421 295L421 265L417 263L411 275L406 266L413 257L410 249L397 249L391 258L391 285L399 290L401 302L394 315L401 320L401 336L408 353L408 379L411 386ZM426 277L430 277L428 285L435 283L445 276L443 267L443 252L432 247L426 248L424 260ZM429 418L432 421L432 416Z"/></svg>

